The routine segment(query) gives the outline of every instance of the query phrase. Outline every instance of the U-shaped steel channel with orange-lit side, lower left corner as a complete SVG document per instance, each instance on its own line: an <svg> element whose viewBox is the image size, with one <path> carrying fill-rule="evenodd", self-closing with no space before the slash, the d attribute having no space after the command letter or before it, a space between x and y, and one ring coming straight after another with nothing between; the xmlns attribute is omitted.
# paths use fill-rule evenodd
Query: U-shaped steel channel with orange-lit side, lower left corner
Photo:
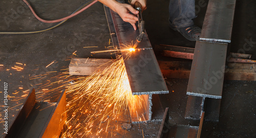
<svg viewBox="0 0 256 138"><path fill-rule="evenodd" d="M36 102L32 89L5 137L58 137L65 121L66 93L56 103Z"/></svg>

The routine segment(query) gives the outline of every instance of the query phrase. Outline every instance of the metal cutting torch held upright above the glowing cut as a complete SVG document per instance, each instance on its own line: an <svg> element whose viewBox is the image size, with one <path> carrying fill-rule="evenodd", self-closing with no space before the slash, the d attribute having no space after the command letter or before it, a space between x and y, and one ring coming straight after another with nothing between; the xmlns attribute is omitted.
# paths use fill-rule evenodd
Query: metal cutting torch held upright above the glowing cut
<svg viewBox="0 0 256 138"><path fill-rule="evenodd" d="M141 4L139 2L136 2L135 4L135 9L139 11L138 14L138 27L139 27L139 36L136 38L136 42L134 44L133 48L136 48L139 44L139 42L142 41L144 34L145 34L145 21L142 19L142 9L141 9Z"/></svg>

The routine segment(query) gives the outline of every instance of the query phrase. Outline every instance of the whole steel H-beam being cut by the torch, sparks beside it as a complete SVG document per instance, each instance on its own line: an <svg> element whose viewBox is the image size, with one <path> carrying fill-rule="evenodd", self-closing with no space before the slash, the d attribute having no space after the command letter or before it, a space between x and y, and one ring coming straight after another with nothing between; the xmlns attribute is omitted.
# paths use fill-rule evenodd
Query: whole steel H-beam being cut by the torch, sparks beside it
<svg viewBox="0 0 256 138"><path fill-rule="evenodd" d="M104 9L112 42L117 49L122 49L124 45L131 44L133 40L136 40L139 30L134 31L130 23L124 22L110 8L104 6ZM116 54L120 54L120 52ZM142 95L144 99L144 108L129 109L132 123L162 121L164 108L159 96L153 94L166 94L169 91L147 35L144 35L143 41L139 43L136 51L131 52L129 56L121 51L121 56L124 60L132 94Z"/></svg>

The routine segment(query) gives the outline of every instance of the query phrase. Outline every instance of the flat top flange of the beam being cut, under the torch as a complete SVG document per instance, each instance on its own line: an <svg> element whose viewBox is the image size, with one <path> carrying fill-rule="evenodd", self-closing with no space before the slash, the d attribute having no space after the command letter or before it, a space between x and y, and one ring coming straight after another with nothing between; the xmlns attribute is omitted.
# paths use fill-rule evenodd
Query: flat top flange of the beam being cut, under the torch
<svg viewBox="0 0 256 138"><path fill-rule="evenodd" d="M110 22L110 17L108 16L112 17L118 39L118 43L115 41L114 45L119 47L118 49L122 49L125 45L131 44L133 40L136 40L136 37L139 35L139 30L134 31L132 25L128 22L124 22L114 11L110 10L110 13L110 15L106 13L107 19L108 22ZM109 23L109 25L111 24L112 23ZM110 30L113 30L112 27L110 27ZM131 52L129 56L127 55L127 51L121 51L133 95L168 93L147 35L144 35L137 49L139 50Z"/></svg>

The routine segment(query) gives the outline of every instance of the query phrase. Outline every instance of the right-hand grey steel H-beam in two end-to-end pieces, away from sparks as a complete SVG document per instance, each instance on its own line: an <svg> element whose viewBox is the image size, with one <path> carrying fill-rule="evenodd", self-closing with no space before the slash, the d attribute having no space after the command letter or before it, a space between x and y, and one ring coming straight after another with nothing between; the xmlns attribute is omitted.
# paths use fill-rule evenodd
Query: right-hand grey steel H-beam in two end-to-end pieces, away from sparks
<svg viewBox="0 0 256 138"><path fill-rule="evenodd" d="M187 87L186 119L219 121L227 43L231 42L236 0L210 0L196 42Z"/></svg>

